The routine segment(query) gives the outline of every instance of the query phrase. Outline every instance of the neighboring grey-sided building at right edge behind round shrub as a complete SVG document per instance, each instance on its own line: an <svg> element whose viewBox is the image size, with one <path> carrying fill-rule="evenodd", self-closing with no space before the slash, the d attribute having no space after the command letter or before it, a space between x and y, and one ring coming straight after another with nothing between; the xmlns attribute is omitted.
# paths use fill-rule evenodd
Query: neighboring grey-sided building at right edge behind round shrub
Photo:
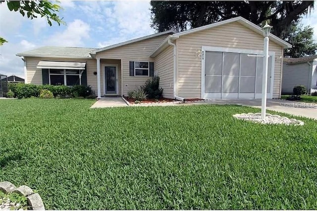
<svg viewBox="0 0 317 211"><path fill-rule="evenodd" d="M283 59L282 94L293 94L296 85L317 92L317 55Z"/></svg>

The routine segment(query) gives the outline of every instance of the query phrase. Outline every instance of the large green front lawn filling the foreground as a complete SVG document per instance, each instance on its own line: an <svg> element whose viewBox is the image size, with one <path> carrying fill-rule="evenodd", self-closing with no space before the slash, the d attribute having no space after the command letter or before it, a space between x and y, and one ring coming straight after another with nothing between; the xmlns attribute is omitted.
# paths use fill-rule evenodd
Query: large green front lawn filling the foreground
<svg viewBox="0 0 317 211"><path fill-rule="evenodd" d="M232 117L259 111L244 106L94 102L0 100L0 181L36 189L47 210L317 209L314 120L261 125Z"/></svg>

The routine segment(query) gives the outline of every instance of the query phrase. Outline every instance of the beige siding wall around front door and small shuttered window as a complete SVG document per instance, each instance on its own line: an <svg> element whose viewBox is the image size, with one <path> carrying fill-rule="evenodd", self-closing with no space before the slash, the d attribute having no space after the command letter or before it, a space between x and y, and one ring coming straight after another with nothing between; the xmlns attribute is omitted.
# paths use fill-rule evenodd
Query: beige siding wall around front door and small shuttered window
<svg viewBox="0 0 317 211"><path fill-rule="evenodd" d="M135 90L144 85L145 81L149 79L148 76L130 76L130 61L154 62L149 55L154 51L159 44L168 35L160 35L138 42L130 43L113 49L98 52L96 58L101 59L121 59L121 73L122 83L121 95L127 95L130 90ZM97 83L97 82L96 82ZM103 90L103 89L102 89Z"/></svg>

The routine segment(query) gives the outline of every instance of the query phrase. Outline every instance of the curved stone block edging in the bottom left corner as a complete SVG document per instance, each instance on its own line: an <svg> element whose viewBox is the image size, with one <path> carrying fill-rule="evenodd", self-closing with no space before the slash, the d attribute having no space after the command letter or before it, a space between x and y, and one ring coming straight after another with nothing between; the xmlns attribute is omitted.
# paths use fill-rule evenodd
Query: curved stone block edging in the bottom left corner
<svg viewBox="0 0 317 211"><path fill-rule="evenodd" d="M17 193L21 196L25 196L27 198L28 206L32 210L45 210L43 201L38 193L34 193L33 190L26 186L21 185L16 188L11 182L0 182L0 191L4 193Z"/></svg>

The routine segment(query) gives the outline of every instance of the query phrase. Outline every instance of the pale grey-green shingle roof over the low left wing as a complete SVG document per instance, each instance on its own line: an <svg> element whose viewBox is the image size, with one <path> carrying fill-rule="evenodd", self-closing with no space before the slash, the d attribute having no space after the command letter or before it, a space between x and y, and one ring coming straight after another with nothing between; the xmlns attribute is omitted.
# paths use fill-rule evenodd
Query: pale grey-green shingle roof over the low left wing
<svg viewBox="0 0 317 211"><path fill-rule="evenodd" d="M16 55L28 57L87 59L91 58L89 53L96 49L97 48L44 46L33 50L24 51Z"/></svg>

